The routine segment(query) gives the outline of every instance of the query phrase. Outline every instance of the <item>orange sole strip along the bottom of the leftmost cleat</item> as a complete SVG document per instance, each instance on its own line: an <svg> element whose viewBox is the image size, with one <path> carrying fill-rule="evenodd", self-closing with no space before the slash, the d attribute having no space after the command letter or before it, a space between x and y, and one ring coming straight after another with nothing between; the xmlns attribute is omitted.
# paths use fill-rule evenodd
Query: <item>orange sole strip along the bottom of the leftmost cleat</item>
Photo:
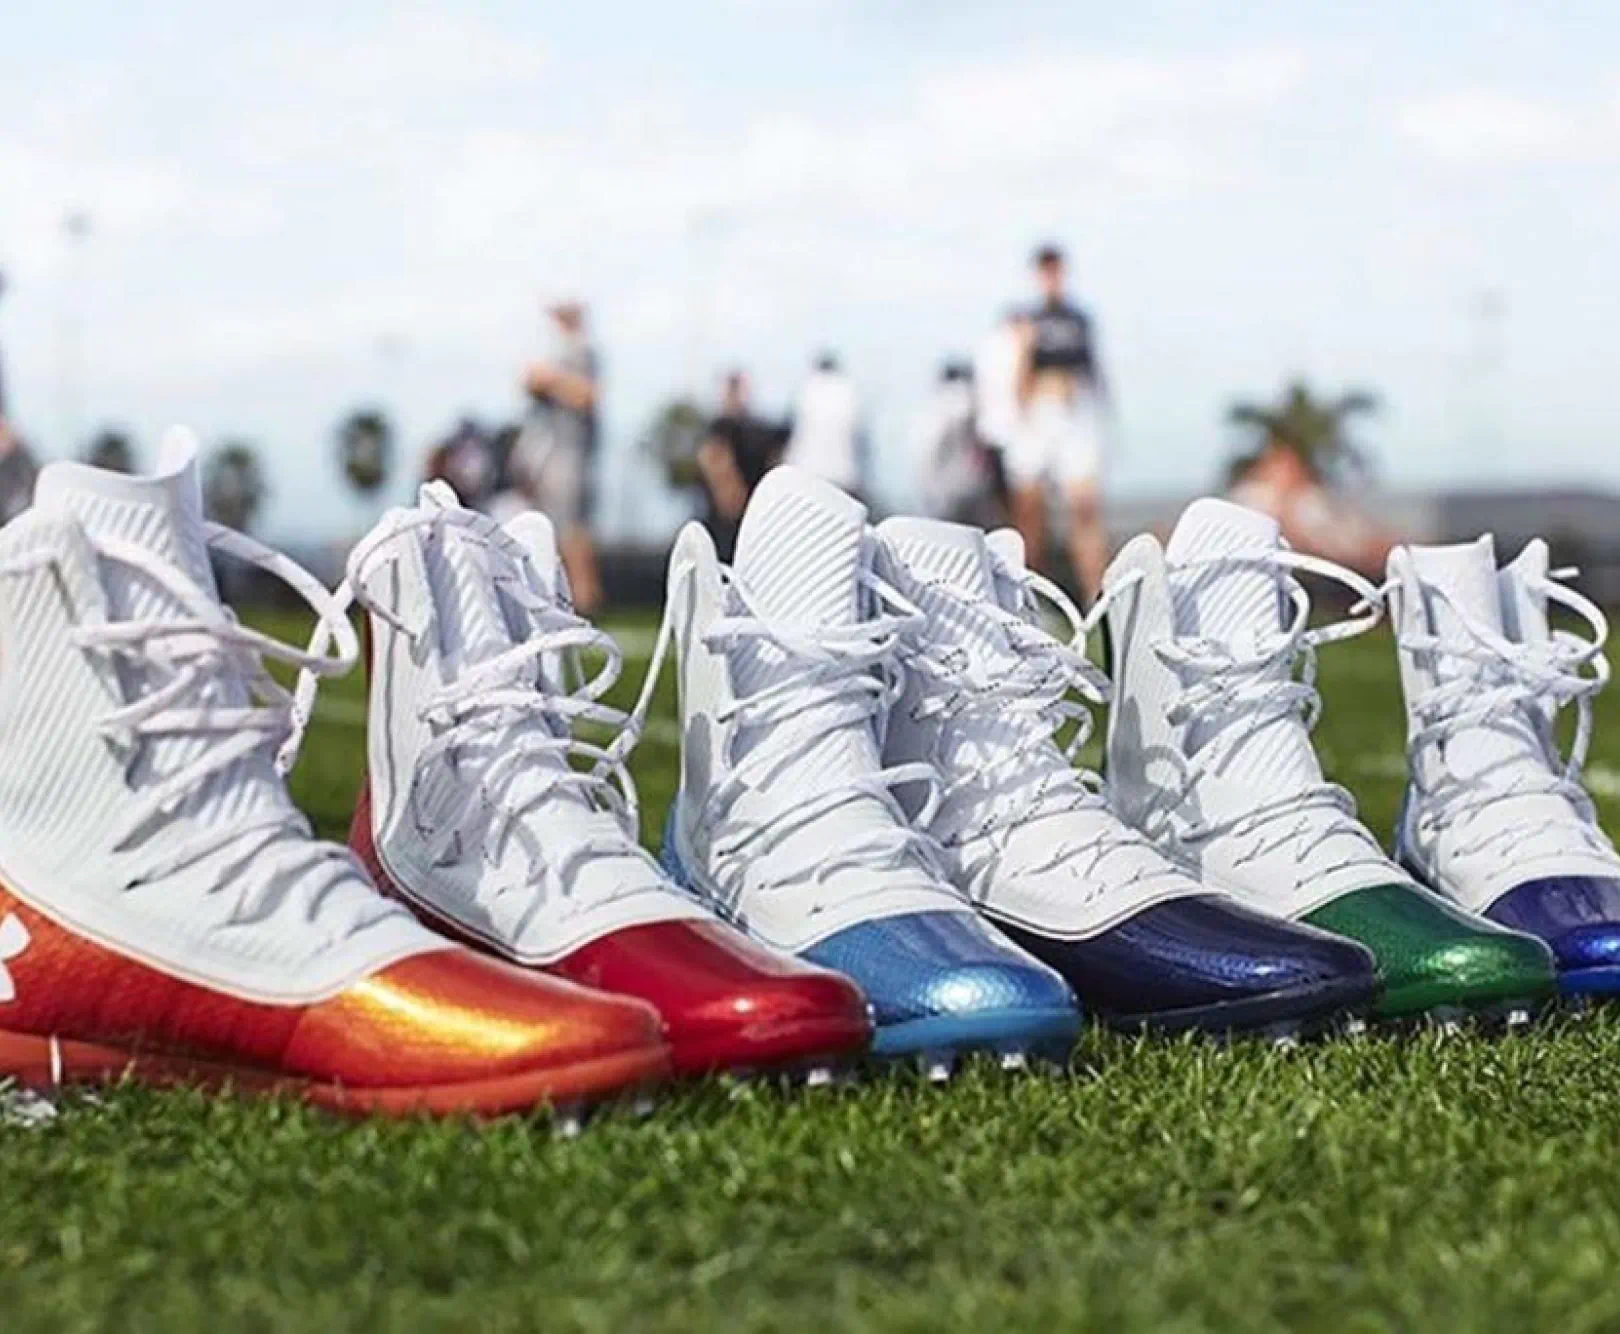
<svg viewBox="0 0 1620 1334"><path fill-rule="evenodd" d="M539 1105L573 1109L663 1080L669 1070L669 1050L654 1047L454 1084L352 1088L224 1062L0 1031L0 1078L15 1078L24 1088L40 1092L63 1084L117 1084L134 1080L157 1088L193 1086L254 1096L292 1096L330 1112L358 1117L497 1117Z"/></svg>

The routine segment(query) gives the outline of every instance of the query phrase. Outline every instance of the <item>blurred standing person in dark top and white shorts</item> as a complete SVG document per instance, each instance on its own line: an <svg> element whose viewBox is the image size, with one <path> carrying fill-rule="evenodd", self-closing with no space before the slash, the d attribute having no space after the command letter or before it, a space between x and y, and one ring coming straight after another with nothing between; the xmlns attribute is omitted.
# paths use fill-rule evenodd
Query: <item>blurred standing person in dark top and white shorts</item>
<svg viewBox="0 0 1620 1334"><path fill-rule="evenodd" d="M1092 319L1068 295L1063 251L1040 246L1032 267L1040 301L1017 326L1019 417L1006 454L1013 522L1030 559L1042 564L1048 506L1056 499L1069 561L1090 601L1108 562L1102 514L1106 389Z"/></svg>

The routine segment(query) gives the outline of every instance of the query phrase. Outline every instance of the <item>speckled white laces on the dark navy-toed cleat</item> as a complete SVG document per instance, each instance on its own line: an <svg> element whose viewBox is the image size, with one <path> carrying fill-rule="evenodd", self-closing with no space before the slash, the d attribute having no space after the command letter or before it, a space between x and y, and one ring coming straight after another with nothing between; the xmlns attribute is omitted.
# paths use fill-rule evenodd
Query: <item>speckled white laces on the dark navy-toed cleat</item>
<svg viewBox="0 0 1620 1334"><path fill-rule="evenodd" d="M1016 663L995 676L975 673L972 655L943 643L927 629L909 637L904 653L906 668L923 686L917 721L967 728L975 723L1011 725L1017 729L1017 739L1001 757L982 768L956 767L941 778L940 809L949 822L941 841L959 846L990 840L993 848L991 856L974 867L975 890L996 879L1011 835L1047 815L1094 810L1103 819L1087 838L1051 840L1037 862L1019 867L1021 877L1076 859L1089 859L1084 870L1095 875L1111 853L1140 851L1144 846L1142 835L1108 814L1102 775L1076 765L1094 726L1085 702L1105 705L1111 694L1108 678L1085 658L1087 622L1051 580L1034 571L1014 577L1021 584L1025 611L1038 614L1043 600L1063 616L1071 632L1068 643L993 601L936 585L932 592L949 598L962 621L1001 647L998 663L1009 656ZM1059 744L1058 733L1071 723L1072 736ZM1147 874L1152 872L1139 867L1126 883ZM978 896L975 890L970 890L972 896Z"/></svg>

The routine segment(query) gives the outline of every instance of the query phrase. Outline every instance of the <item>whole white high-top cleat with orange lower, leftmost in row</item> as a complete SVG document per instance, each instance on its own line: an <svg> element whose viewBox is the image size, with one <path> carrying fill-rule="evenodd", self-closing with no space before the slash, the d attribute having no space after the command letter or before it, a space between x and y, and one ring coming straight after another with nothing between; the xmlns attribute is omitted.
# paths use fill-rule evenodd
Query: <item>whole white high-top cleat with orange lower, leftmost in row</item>
<svg viewBox="0 0 1620 1334"><path fill-rule="evenodd" d="M0 1076L496 1114L664 1075L650 1008L441 940L309 835L262 660L342 673L355 634L309 574L204 524L180 449L157 477L52 464L0 530ZM335 655L240 626L211 548L290 582Z"/></svg>

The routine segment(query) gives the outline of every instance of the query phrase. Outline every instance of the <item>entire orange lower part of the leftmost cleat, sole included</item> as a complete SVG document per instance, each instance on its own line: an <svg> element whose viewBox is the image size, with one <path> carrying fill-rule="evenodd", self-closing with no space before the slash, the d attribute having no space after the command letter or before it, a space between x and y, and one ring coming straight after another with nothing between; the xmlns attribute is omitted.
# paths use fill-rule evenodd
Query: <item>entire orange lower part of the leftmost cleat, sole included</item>
<svg viewBox="0 0 1620 1334"><path fill-rule="evenodd" d="M339 1112L499 1115L669 1073L658 1015L455 945L308 1005L168 976L0 888L0 1076L284 1092Z"/></svg>

